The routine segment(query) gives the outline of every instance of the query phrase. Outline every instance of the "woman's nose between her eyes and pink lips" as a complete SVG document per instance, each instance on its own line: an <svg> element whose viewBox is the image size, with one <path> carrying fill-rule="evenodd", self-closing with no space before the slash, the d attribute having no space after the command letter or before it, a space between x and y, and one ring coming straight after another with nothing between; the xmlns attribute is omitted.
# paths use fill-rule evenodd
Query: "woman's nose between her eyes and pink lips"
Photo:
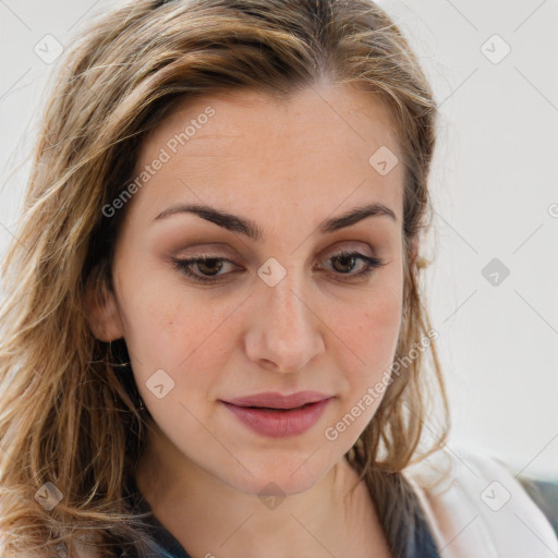
<svg viewBox="0 0 558 558"><path fill-rule="evenodd" d="M324 325L301 286L287 274L275 287L257 287L253 303L258 310L252 314L245 343L247 356L263 368L298 372L324 352Z"/></svg>

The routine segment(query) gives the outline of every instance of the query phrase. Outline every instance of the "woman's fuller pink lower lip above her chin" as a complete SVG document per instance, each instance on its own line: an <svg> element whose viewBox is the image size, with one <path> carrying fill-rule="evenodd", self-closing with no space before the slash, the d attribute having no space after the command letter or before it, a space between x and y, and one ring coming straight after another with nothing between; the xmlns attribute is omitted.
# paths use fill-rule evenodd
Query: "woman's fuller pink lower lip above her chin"
<svg viewBox="0 0 558 558"><path fill-rule="evenodd" d="M314 426L329 401L331 398L289 411L238 407L225 401L223 403L252 430L270 438L286 438L302 434Z"/></svg>

